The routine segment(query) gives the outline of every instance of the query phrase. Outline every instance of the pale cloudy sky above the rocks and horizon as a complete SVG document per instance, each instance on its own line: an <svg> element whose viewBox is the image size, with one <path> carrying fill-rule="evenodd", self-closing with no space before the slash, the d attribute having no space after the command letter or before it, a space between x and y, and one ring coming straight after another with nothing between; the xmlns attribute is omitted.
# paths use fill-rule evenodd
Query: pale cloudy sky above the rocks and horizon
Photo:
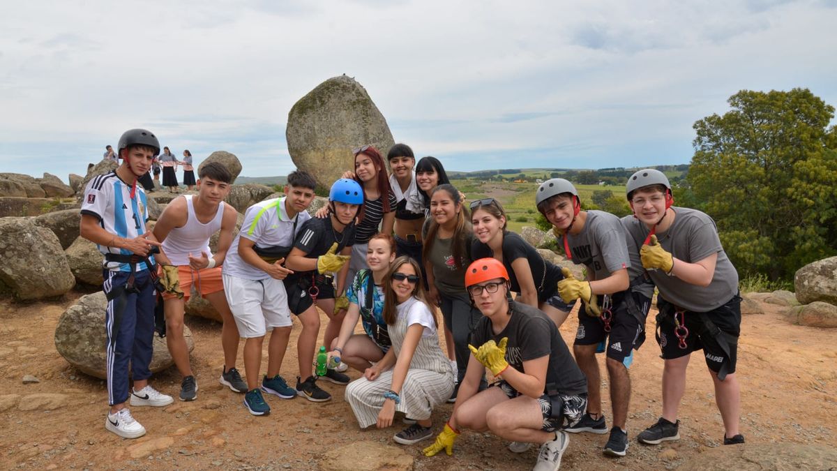
<svg viewBox="0 0 837 471"><path fill-rule="evenodd" d="M0 172L66 181L145 127L285 175L288 111L342 74L449 170L689 163L742 89L837 106L834 25L837 0L2 0Z"/></svg>

